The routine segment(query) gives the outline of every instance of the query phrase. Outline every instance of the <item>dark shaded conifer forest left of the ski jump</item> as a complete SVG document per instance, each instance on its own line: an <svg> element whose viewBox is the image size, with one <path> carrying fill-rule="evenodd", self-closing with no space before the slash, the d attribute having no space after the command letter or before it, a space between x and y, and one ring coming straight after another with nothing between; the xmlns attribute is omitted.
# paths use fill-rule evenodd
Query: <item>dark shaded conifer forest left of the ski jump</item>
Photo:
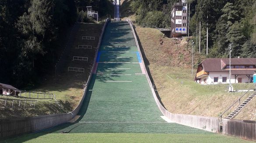
<svg viewBox="0 0 256 143"><path fill-rule="evenodd" d="M107 5L109 0L0 0L0 82L32 87L52 74L60 35L86 6L104 15Z"/></svg>

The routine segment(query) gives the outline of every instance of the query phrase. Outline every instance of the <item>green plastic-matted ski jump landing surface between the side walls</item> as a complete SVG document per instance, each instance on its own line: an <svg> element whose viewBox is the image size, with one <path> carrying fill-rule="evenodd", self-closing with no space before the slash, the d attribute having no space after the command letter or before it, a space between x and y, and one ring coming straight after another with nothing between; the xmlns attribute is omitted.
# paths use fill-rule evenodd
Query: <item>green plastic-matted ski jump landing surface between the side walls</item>
<svg viewBox="0 0 256 143"><path fill-rule="evenodd" d="M77 120L42 131L43 134L210 133L164 120L141 62L128 22L109 22Z"/></svg>

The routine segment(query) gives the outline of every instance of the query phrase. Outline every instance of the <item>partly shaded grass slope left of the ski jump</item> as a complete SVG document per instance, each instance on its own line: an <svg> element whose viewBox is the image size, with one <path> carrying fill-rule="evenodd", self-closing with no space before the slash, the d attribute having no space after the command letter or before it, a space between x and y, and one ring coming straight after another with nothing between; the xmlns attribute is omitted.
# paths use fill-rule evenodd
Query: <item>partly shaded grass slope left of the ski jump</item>
<svg viewBox="0 0 256 143"><path fill-rule="evenodd" d="M78 28L73 31L74 35L71 35L74 42L65 60L68 61L67 67L85 68L85 73L64 72L57 77L55 75L48 75L36 89L30 90L55 94L60 107L54 99L38 99L35 109L0 109L1 119L66 113L75 109L83 95L82 86L88 80L90 74L90 65L92 66L94 60L95 48L97 47L103 24L78 23L77 26ZM93 36L95 40L82 40L82 36ZM63 40L61 41L64 42ZM92 49L77 49L78 45L81 44L92 45ZM88 62L72 62L73 56L88 57ZM1 95L0 97L10 98Z"/></svg>

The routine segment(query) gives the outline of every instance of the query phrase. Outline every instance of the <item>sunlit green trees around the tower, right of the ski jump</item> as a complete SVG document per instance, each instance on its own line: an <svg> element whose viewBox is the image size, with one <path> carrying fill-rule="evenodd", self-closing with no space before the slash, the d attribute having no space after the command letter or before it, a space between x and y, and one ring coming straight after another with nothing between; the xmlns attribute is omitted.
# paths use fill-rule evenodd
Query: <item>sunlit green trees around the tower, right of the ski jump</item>
<svg viewBox="0 0 256 143"><path fill-rule="evenodd" d="M136 23L142 27L170 27L171 8L179 0L135 0L132 3ZM189 36L199 51L206 54L208 27L208 58L228 58L232 43L234 58L256 58L256 1L254 0L188 0L190 6ZM208 25L208 26L207 26Z"/></svg>

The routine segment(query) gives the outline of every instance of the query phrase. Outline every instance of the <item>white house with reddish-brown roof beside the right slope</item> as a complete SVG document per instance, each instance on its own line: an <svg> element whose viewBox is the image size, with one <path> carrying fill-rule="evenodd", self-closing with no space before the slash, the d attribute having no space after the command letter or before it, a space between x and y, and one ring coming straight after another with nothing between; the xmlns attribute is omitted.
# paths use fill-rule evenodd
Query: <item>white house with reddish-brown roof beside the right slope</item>
<svg viewBox="0 0 256 143"><path fill-rule="evenodd" d="M207 58L198 65L195 81L200 84L229 83L229 67L231 67L231 83L253 82L256 73L256 58Z"/></svg>

